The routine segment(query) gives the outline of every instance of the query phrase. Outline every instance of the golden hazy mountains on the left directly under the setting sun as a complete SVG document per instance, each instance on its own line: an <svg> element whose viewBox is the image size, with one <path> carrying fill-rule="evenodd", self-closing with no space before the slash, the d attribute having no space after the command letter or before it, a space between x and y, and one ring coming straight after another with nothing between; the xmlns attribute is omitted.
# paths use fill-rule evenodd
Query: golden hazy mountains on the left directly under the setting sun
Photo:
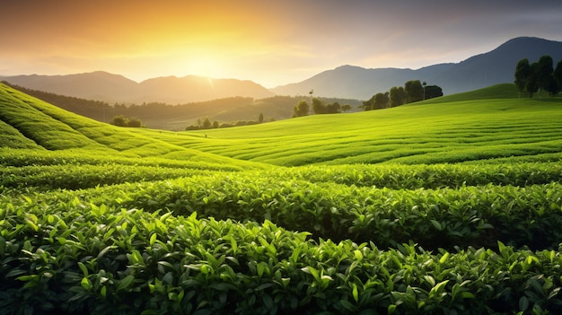
<svg viewBox="0 0 562 315"><path fill-rule="evenodd" d="M33 90L110 103L159 101L184 104L233 96L261 99L274 95L251 81L212 79L196 75L159 77L141 83L102 71L68 75L17 75L0 79Z"/></svg>

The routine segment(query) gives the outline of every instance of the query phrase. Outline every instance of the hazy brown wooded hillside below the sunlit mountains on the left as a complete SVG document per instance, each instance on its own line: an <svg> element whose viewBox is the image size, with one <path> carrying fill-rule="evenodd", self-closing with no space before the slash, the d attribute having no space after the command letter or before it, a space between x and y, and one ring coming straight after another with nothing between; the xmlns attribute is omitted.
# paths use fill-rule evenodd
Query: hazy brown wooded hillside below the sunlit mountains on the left
<svg viewBox="0 0 562 315"><path fill-rule="evenodd" d="M233 125L237 121L256 121L260 114L263 114L265 121L272 118L282 120L291 118L294 105L303 100L303 97L293 96L273 96L265 99L230 97L180 105L157 102L125 106L42 92L10 83L6 84L61 109L87 118L109 122L111 118L123 115L127 118L140 119L146 127L163 130L184 130L191 125L197 126L198 121L205 120L205 118L209 118L211 121L216 120L221 124L231 123ZM320 99L325 103L338 101L342 105L349 104L352 106L352 111L355 111L357 106L362 104L362 101L357 100Z"/></svg>

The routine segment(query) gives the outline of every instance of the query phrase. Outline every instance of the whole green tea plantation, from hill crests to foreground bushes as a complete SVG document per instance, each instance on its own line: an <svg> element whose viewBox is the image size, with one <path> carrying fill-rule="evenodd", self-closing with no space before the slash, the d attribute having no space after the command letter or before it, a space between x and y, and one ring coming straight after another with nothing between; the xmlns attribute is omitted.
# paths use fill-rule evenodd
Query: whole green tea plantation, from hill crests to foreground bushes
<svg viewBox="0 0 562 315"><path fill-rule="evenodd" d="M0 314L558 314L562 99L197 132L0 83Z"/></svg>

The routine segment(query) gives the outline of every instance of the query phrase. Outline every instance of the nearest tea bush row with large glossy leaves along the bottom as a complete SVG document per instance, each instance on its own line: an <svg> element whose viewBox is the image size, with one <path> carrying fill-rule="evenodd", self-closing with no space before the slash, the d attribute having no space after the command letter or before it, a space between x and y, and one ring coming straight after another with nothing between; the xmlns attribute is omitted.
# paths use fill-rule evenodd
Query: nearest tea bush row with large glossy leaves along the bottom
<svg viewBox="0 0 562 315"><path fill-rule="evenodd" d="M13 199L0 226L0 314L562 311L559 250L381 250L77 199Z"/></svg>

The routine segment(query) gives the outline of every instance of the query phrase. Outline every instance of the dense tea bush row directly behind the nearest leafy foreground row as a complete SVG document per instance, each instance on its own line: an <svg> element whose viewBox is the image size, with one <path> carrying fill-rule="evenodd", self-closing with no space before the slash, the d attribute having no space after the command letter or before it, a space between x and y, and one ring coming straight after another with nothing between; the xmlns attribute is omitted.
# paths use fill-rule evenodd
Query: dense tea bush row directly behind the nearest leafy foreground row
<svg viewBox="0 0 562 315"><path fill-rule="evenodd" d="M476 186L394 190L255 178L251 172L193 176L114 187L37 194L52 211L78 200L148 212L197 212L240 222L272 221L314 238L373 241L381 248L410 240L426 249L557 248L562 240L562 184L524 188ZM8 199L9 200L9 199Z"/></svg>

